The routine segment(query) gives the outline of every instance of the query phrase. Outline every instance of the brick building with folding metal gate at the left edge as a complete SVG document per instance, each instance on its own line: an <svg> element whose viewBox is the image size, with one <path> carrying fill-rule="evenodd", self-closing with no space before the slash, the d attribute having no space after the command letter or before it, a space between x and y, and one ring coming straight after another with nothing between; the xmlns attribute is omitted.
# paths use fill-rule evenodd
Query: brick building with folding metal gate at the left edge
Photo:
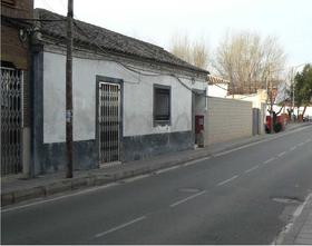
<svg viewBox="0 0 312 246"><path fill-rule="evenodd" d="M28 174L33 0L1 0L1 176Z"/></svg>

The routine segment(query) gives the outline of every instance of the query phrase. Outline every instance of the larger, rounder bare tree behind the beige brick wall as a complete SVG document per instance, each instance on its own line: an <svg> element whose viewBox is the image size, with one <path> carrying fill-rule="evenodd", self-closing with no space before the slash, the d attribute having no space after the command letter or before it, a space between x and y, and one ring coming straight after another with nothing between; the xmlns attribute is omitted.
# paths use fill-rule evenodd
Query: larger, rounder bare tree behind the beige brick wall
<svg viewBox="0 0 312 246"><path fill-rule="evenodd" d="M232 94L251 94L281 80L285 53L276 38L263 39L253 32L227 33L217 47L213 66L230 80Z"/></svg>

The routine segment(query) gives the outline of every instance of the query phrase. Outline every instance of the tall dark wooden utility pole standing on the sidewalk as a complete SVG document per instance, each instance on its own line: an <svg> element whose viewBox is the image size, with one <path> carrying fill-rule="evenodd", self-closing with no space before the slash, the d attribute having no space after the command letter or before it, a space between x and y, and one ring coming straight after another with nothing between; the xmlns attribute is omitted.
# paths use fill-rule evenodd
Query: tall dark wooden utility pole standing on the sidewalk
<svg viewBox="0 0 312 246"><path fill-rule="evenodd" d="M68 0L66 56L66 178L72 178L72 17L74 0Z"/></svg>

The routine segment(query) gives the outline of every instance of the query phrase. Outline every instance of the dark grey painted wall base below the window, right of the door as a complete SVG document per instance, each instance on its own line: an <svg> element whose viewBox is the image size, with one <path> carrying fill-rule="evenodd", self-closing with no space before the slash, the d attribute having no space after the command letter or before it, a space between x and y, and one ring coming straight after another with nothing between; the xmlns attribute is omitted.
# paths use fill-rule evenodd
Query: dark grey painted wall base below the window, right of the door
<svg viewBox="0 0 312 246"><path fill-rule="evenodd" d="M152 156L193 148L193 132L153 134L123 138L121 160L139 160Z"/></svg>

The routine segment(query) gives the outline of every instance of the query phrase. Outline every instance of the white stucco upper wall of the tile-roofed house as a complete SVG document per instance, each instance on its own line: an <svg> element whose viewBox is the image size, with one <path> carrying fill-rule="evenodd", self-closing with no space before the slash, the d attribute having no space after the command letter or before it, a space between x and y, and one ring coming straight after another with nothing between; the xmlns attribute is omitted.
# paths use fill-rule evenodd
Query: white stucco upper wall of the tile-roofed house
<svg viewBox="0 0 312 246"><path fill-rule="evenodd" d="M65 141L66 57L43 53L43 141ZM95 139L96 76L124 80L124 136L187 131L192 129L192 92L170 76L146 77L113 61L74 58L74 140ZM206 82L182 79L188 87L205 90ZM172 88L172 125L153 126L153 85Z"/></svg>

